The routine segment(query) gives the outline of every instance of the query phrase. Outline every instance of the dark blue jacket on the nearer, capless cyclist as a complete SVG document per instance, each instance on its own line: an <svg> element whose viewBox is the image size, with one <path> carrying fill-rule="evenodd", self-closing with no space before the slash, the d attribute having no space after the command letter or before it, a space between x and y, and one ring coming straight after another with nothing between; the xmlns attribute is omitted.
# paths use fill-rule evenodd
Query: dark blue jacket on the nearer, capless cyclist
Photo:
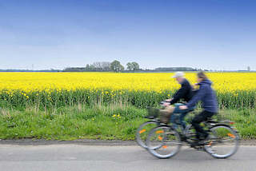
<svg viewBox="0 0 256 171"><path fill-rule="evenodd" d="M188 108L194 106L198 101L202 101L202 108L208 112L218 112L218 101L214 90L211 88L212 82L205 80L200 82L200 88L194 97L186 104Z"/></svg>

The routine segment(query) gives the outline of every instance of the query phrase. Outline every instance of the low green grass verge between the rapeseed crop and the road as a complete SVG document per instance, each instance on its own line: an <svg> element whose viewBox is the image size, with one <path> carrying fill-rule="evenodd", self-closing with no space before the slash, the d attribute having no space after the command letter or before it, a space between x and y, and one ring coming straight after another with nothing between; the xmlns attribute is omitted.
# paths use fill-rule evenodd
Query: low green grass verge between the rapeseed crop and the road
<svg viewBox="0 0 256 171"><path fill-rule="evenodd" d="M218 117L235 121L242 138L250 139L256 138L255 113L256 109L225 109ZM138 125L146 121L144 116L146 109L125 105L0 109L0 139L134 140Z"/></svg>

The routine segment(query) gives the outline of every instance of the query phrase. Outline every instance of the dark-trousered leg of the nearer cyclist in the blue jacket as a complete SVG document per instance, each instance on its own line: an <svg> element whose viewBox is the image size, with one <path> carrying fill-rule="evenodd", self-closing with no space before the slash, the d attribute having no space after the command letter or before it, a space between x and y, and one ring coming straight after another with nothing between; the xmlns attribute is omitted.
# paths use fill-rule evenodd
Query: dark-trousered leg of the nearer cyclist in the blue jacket
<svg viewBox="0 0 256 171"><path fill-rule="evenodd" d="M206 138L208 136L208 133L204 129L202 129L202 126L200 126L200 123L202 121L206 121L208 117L212 117L213 115L214 113L204 110L202 111L202 113L199 113L197 116L194 117L192 121L192 125L194 126L194 129L197 132L196 136L198 139L200 139L200 137Z"/></svg>

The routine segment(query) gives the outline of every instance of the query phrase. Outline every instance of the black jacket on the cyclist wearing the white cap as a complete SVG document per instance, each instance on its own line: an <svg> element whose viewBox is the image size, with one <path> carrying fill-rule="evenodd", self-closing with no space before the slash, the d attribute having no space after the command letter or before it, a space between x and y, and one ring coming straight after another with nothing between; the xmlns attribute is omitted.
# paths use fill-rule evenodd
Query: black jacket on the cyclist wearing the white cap
<svg viewBox="0 0 256 171"><path fill-rule="evenodd" d="M174 93L173 100L170 101L170 105L178 102L179 100L183 99L184 101L190 101L192 98L192 87L190 82L186 79L182 82L182 87L178 89L176 93Z"/></svg>

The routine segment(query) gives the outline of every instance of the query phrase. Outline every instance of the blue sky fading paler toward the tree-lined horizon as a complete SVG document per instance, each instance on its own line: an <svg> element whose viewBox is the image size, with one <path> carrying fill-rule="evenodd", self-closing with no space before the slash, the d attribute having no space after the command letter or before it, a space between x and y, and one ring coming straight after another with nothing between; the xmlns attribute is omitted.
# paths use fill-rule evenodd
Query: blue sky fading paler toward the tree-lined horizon
<svg viewBox="0 0 256 171"><path fill-rule="evenodd" d="M256 1L0 0L0 69L117 59L256 70Z"/></svg>

